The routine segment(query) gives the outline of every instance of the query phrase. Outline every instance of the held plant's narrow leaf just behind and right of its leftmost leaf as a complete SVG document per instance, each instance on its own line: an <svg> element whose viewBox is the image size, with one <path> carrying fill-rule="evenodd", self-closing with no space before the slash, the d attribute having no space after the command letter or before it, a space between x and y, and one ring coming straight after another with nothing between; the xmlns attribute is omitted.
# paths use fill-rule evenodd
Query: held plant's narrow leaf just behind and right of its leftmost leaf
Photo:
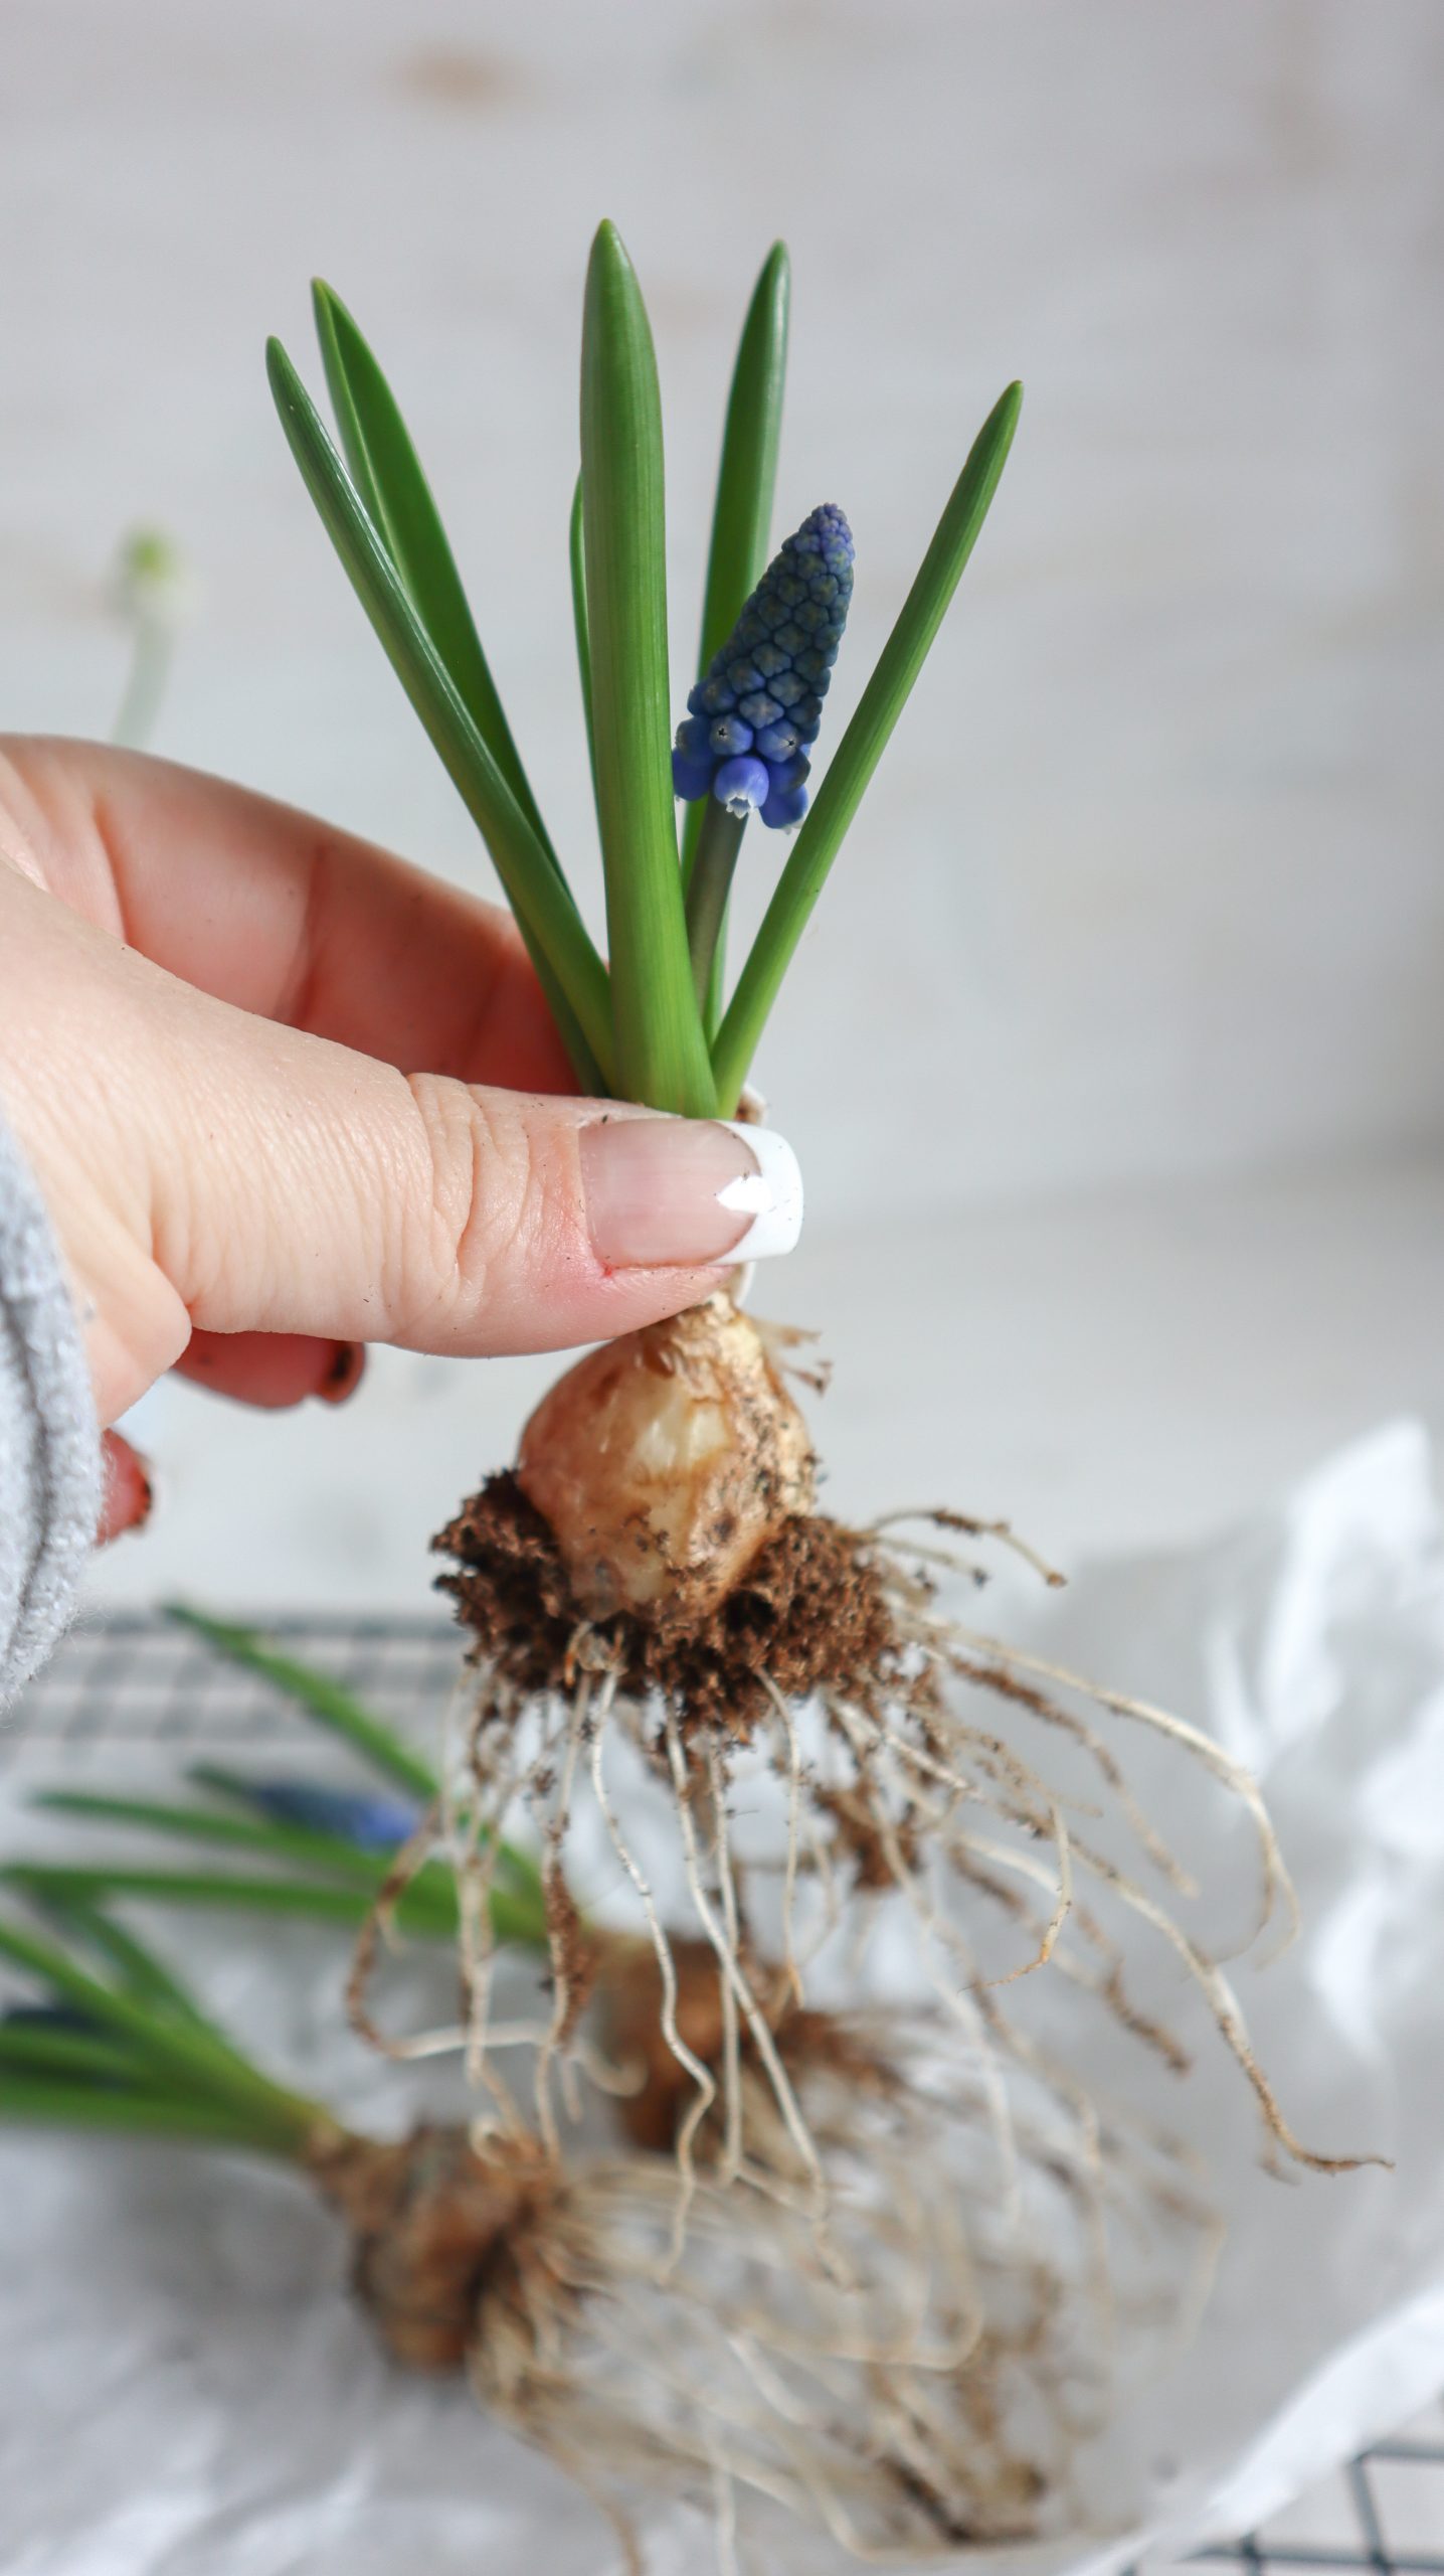
<svg viewBox="0 0 1444 2576"><path fill-rule="evenodd" d="M471 618L440 510L422 474L396 397L355 319L322 278L311 281L311 304L340 443L355 489L386 538L402 587L430 634L466 714L551 863L559 866L502 711L497 683L481 652L481 636Z"/></svg>

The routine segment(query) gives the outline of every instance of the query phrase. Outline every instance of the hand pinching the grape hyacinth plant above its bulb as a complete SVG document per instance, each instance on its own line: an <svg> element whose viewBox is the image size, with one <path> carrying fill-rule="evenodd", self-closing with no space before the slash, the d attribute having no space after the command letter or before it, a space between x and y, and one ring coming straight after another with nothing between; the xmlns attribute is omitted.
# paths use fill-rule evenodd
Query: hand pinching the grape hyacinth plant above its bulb
<svg viewBox="0 0 1444 2576"><path fill-rule="evenodd" d="M165 1368L296 1404L366 1342L605 1340L762 1249L744 1139L571 1090L497 907L170 762L0 742L0 1100L100 1422Z"/></svg>

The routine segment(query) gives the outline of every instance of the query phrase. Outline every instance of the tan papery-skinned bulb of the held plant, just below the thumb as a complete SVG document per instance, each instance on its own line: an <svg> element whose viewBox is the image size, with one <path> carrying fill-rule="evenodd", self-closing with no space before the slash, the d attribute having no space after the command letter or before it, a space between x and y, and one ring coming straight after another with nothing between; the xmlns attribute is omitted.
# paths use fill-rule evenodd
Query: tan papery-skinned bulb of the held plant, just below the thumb
<svg viewBox="0 0 1444 2576"><path fill-rule="evenodd" d="M517 1484L579 1610L705 1618L813 1504L813 1450L757 1324L728 1296L592 1350L530 1417Z"/></svg>

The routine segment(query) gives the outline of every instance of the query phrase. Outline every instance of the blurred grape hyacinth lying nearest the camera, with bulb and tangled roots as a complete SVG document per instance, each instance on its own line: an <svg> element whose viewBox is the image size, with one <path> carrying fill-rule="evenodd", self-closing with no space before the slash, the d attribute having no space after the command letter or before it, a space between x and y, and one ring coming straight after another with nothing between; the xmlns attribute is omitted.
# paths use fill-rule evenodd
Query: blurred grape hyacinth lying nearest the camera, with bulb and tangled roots
<svg viewBox="0 0 1444 2576"><path fill-rule="evenodd" d="M960 2249L937 2259L955 2228L916 2172L852 2166L826 2275L785 2192L744 2213L703 2179L677 2244L659 2159L564 2164L535 2138L453 2120L394 2138L347 2125L255 2063L95 1901L5 1906L0 1971L26 1996L0 2009L3 2120L291 2169L345 2228L353 2293L391 2360L466 2370L479 2403L607 2512L628 2576L643 2568L638 2494L710 2514L726 2496L734 2535L739 2499L772 2499L865 2558L1027 2530L1040 2437L1017 2445L996 2388L1037 2378L1032 2321L999 2298L981 2331L991 2285ZM1032 2161L1037 2192L1060 2197L1042 2143ZM960 2365L981 2344L973 2388Z"/></svg>

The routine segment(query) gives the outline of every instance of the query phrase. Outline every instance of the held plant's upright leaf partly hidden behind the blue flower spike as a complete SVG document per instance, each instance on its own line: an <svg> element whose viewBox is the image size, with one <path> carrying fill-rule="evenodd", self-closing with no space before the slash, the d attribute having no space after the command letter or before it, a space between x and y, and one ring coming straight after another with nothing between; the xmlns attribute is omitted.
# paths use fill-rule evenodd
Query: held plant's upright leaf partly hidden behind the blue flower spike
<svg viewBox="0 0 1444 2576"><path fill-rule="evenodd" d="M708 667L716 652L726 644L731 629L736 626L746 600L757 590L767 569L767 544L772 531L772 497L777 489L777 446L782 440L782 389L788 381L788 307L793 299L793 270L788 263L788 245L775 242L762 265L762 276L752 289L752 304L746 307L746 322L741 325L741 340L736 348L736 366L731 371L731 392L726 402L723 446L718 464L718 497L713 505L713 541L708 551L708 582L703 592L703 639L698 654L698 672ZM698 796L687 806L687 819L682 824L682 886L687 891L687 930L692 922L703 920L710 925L716 917L716 930L708 927L708 989L703 1023L708 1038L716 1036L721 1007L723 1007L723 979L726 979L726 894L731 886L731 866L718 866L721 889L700 889L698 871L698 845L703 837L703 824L710 819L713 799ZM731 819L731 817L728 817ZM708 840L713 840L708 835ZM708 853L710 855L710 853ZM731 848L731 863L736 863L736 840ZM721 902L718 902L721 891ZM692 963L698 958L698 935L690 938Z"/></svg>

